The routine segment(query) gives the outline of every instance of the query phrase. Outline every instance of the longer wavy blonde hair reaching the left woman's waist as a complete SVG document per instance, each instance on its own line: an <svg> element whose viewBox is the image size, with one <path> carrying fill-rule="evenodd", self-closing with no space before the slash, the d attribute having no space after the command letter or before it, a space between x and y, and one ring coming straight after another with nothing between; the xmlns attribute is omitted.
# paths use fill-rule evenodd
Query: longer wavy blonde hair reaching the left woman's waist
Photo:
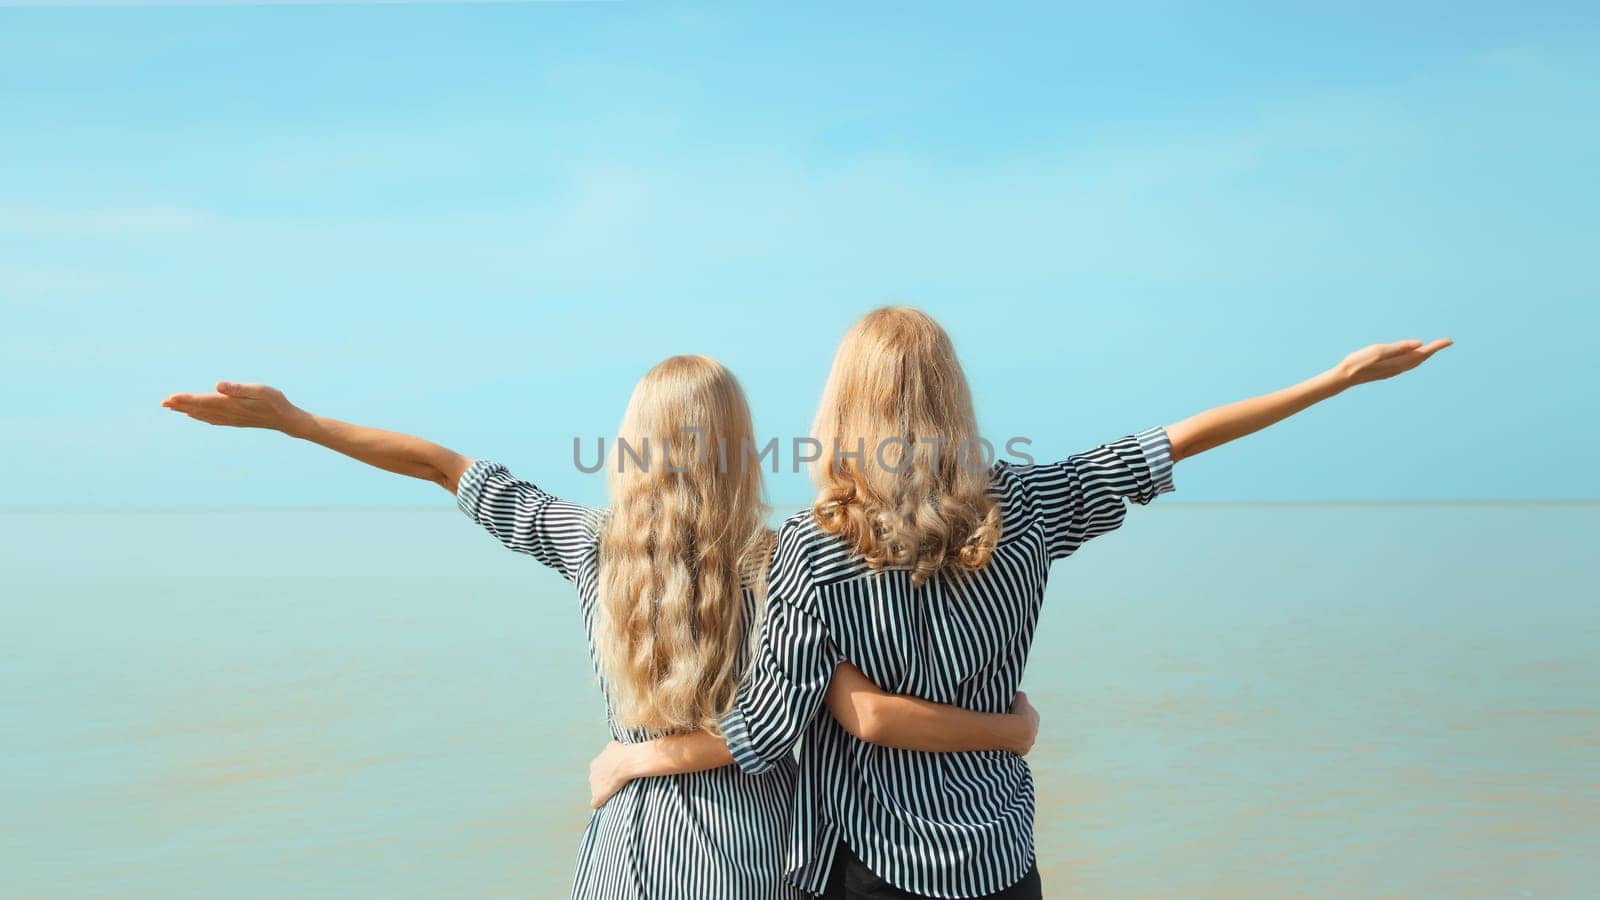
<svg viewBox="0 0 1600 900"><path fill-rule="evenodd" d="M595 650L622 727L707 729L733 705L771 533L744 391L714 359L675 356L627 402L600 532Z"/></svg>

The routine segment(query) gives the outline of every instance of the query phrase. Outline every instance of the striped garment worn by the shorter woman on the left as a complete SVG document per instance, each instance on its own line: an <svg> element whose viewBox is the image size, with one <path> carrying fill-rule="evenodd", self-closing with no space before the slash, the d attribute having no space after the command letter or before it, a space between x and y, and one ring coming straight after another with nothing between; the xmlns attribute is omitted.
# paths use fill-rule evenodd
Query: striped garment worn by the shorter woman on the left
<svg viewBox="0 0 1600 900"><path fill-rule="evenodd" d="M533 556L573 583L589 655L595 660L605 514L557 500L485 460L474 461L461 476L456 504L507 548ZM746 621L757 621L754 593L744 593L744 604ZM613 738L638 743L661 737L619 727L603 677L600 690ZM794 783L794 761L755 777L725 765L630 781L589 818L578 849L573 897L800 900L802 894L782 879Z"/></svg>

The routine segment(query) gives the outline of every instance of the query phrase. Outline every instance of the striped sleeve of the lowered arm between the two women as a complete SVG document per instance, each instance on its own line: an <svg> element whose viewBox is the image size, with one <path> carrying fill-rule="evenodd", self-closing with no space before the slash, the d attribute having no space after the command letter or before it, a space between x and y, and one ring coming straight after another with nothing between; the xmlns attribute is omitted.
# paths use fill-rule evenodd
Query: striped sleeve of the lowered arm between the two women
<svg viewBox="0 0 1600 900"><path fill-rule="evenodd" d="M766 588L766 621L755 661L738 701L720 722L739 769L765 772L794 753L822 708L842 655L826 623L811 610L810 557L800 530L778 535L778 556Z"/></svg>

